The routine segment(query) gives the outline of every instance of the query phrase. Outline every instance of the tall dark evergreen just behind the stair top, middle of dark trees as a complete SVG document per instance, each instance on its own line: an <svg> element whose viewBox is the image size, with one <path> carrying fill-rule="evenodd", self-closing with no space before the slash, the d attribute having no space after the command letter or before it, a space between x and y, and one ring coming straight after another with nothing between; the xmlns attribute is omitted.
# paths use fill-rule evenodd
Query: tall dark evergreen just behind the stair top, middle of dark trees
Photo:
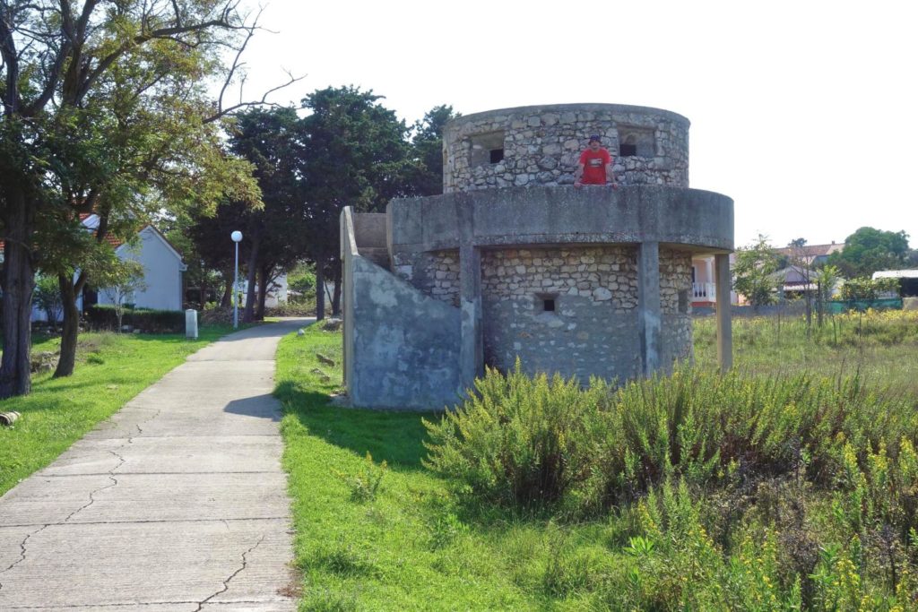
<svg viewBox="0 0 918 612"><path fill-rule="evenodd" d="M335 283L334 313L341 307L341 210L379 211L389 198L405 193L408 129L380 99L345 86L303 100L309 111L302 124L309 250L316 262L316 294L323 295L326 273ZM321 298L316 315L325 316Z"/></svg>

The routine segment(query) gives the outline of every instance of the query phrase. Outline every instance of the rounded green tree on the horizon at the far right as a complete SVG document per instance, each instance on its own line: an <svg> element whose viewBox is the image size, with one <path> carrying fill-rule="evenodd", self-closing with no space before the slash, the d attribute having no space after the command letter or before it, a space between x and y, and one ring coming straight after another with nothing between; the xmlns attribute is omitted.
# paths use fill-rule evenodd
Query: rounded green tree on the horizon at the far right
<svg viewBox="0 0 918 612"><path fill-rule="evenodd" d="M904 231L858 228L845 239L845 248L833 253L829 263L845 278L869 277L878 270L896 270L907 265L909 235Z"/></svg>

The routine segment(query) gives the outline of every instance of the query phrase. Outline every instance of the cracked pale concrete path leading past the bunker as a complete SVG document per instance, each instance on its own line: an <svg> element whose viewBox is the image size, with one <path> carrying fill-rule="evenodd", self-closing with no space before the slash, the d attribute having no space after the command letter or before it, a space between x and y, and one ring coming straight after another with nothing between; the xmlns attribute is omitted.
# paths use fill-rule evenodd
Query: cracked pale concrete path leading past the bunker
<svg viewBox="0 0 918 612"><path fill-rule="evenodd" d="M0 610L292 610L274 351L197 351L0 498Z"/></svg>

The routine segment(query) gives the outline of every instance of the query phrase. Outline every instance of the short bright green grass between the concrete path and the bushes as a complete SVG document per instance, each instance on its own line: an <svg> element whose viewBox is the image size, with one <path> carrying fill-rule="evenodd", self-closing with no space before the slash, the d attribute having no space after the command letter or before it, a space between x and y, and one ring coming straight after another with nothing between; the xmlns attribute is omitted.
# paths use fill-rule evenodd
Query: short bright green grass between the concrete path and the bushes
<svg viewBox="0 0 918 612"><path fill-rule="evenodd" d="M549 551L569 538L543 523L469 517L426 455L420 415L327 406L341 369L341 334L318 326L281 341L276 395L285 406L285 469L294 498L302 610L532 609ZM323 383L323 373L331 381ZM374 499L354 489L387 467ZM584 539L588 550L601 548ZM582 537L582 536L577 536ZM566 549L565 549L566 550ZM580 550L580 549L578 549ZM582 550L581 550L582 551ZM570 609L579 609L572 603Z"/></svg>

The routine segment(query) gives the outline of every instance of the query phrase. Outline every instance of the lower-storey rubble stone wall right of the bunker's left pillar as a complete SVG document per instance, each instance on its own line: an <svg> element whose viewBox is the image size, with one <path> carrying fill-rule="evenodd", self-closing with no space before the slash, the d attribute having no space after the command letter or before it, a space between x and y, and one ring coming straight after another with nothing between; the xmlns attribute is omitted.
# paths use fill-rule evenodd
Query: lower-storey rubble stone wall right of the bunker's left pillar
<svg viewBox="0 0 918 612"><path fill-rule="evenodd" d="M482 253L485 362L509 370L519 357L526 372L582 381L639 375L636 257L633 246ZM660 284L668 367L691 354L691 320L679 308L691 285L689 252L661 250Z"/></svg>

